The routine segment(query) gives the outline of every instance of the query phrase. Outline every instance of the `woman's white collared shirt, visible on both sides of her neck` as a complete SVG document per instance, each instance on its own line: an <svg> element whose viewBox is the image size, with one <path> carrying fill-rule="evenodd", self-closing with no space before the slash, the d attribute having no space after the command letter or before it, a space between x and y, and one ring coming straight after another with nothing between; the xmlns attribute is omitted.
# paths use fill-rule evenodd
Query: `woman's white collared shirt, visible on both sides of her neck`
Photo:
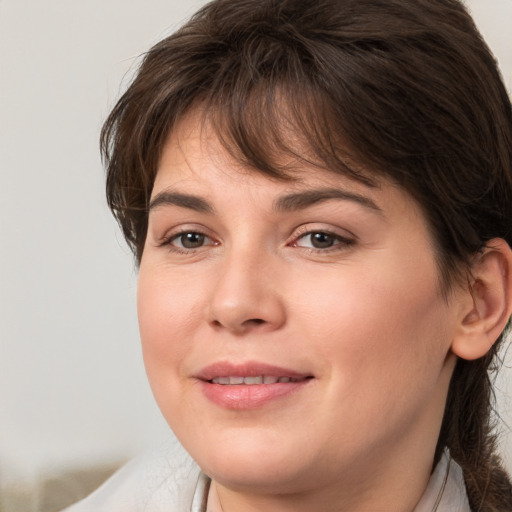
<svg viewBox="0 0 512 512"><path fill-rule="evenodd" d="M134 459L63 512L210 512L213 503L205 506L208 487L197 464L173 446ZM462 470L447 452L412 512L471 512Z"/></svg>

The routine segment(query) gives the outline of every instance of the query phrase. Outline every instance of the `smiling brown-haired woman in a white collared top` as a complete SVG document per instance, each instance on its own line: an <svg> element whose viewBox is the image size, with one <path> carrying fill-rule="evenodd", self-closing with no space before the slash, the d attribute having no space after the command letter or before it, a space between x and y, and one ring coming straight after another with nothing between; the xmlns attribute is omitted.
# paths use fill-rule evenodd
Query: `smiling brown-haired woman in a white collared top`
<svg viewBox="0 0 512 512"><path fill-rule="evenodd" d="M73 510L512 510L488 374L512 114L459 1L214 0L148 52L102 148L195 463Z"/></svg>

